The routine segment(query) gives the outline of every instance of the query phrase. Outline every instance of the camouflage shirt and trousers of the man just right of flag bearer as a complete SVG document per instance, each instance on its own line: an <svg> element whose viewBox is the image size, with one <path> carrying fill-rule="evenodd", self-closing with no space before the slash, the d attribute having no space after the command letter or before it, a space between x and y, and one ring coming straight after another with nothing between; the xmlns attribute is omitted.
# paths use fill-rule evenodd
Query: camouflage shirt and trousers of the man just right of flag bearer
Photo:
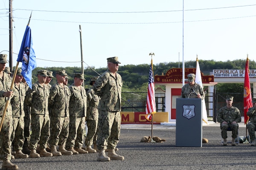
<svg viewBox="0 0 256 170"><path fill-rule="evenodd" d="M26 88L23 83L14 84L14 96L11 99L13 132L11 136L13 150L22 150L24 143L24 99L26 96Z"/></svg>

